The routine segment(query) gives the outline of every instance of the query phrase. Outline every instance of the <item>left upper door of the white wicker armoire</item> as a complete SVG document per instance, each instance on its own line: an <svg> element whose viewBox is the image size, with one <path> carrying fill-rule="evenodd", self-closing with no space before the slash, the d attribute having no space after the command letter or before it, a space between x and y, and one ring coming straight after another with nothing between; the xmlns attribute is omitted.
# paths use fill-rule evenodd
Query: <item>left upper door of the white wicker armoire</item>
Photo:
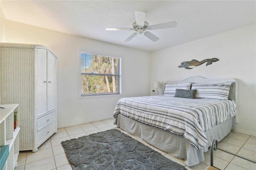
<svg viewBox="0 0 256 170"><path fill-rule="evenodd" d="M47 112L47 51L37 49L36 56L36 113Z"/></svg>

